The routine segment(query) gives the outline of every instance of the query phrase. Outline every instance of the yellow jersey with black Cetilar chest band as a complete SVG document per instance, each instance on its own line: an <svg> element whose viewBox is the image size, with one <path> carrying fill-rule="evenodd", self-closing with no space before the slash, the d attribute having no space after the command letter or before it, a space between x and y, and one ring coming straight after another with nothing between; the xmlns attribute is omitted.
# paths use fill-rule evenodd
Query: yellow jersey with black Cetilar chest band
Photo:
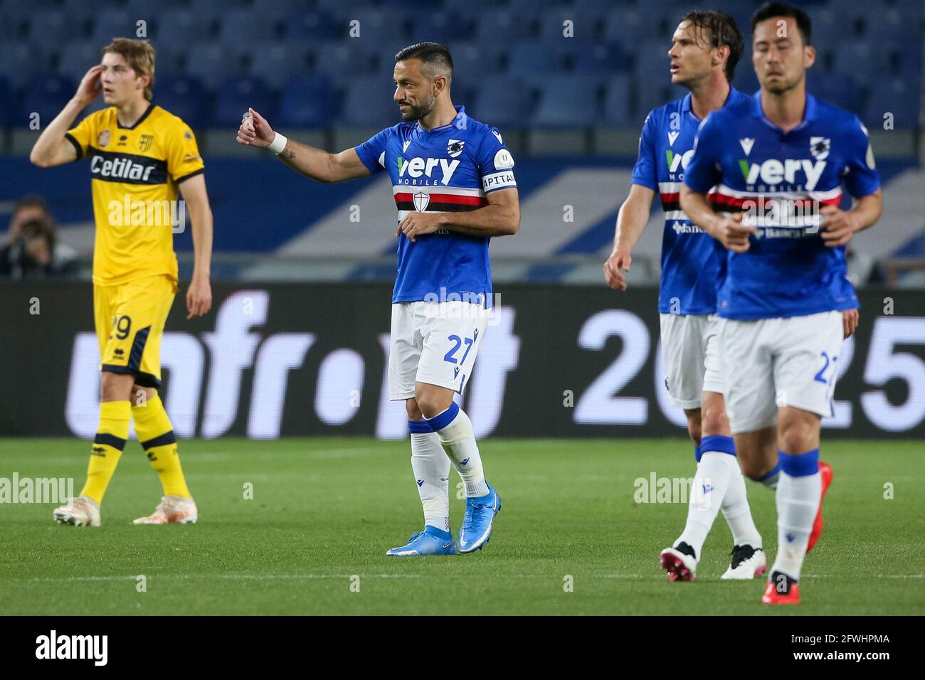
<svg viewBox="0 0 925 680"><path fill-rule="evenodd" d="M85 117L65 137L78 159L90 159L93 283L115 286L158 274L176 283L173 234L186 221L177 187L203 172L189 126L152 104L138 122L124 128L116 107L110 106Z"/></svg>

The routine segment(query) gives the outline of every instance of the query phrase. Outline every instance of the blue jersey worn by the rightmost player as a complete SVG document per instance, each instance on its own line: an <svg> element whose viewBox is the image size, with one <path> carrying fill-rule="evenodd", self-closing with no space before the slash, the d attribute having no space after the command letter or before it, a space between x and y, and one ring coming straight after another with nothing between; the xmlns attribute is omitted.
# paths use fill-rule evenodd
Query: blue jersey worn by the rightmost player
<svg viewBox="0 0 925 680"><path fill-rule="evenodd" d="M685 184L716 187L717 212L743 211L756 228L746 253L726 253L717 314L760 319L858 306L845 247L828 248L819 209L876 192L880 179L857 116L807 94L803 122L784 133L764 116L761 93L712 112L700 126Z"/></svg>

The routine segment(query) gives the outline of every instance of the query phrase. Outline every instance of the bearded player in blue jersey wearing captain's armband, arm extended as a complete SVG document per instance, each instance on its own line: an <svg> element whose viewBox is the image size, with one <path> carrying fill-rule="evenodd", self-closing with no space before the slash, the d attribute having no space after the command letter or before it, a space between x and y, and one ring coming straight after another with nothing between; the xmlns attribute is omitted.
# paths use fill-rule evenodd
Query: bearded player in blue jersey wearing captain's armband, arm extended
<svg viewBox="0 0 925 680"><path fill-rule="evenodd" d="M450 463L465 486L459 551L482 548L501 509L485 479L469 417L453 401L472 375L492 302L488 241L515 234L514 161L496 128L450 100L450 51L417 43L395 56L401 122L328 154L274 132L250 110L238 142L267 147L303 175L332 182L383 170L398 208L388 392L404 401L424 531L389 555L456 554L450 533Z"/></svg>

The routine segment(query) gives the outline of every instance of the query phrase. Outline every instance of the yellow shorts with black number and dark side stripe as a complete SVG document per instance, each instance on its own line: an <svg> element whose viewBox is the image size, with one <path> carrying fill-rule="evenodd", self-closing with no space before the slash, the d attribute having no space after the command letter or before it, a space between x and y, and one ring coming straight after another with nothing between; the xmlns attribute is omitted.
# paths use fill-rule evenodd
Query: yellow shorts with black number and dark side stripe
<svg viewBox="0 0 925 680"><path fill-rule="evenodd" d="M161 386L161 338L176 294L177 285L166 276L93 286L101 371L135 376L142 387Z"/></svg>

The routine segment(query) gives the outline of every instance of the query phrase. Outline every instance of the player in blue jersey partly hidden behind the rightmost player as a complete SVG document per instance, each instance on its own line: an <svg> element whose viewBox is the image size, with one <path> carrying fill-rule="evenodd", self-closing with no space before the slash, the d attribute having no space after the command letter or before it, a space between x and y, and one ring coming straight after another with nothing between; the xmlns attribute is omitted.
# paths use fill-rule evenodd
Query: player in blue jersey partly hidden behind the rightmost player
<svg viewBox="0 0 925 680"><path fill-rule="evenodd" d="M753 578L766 565L722 398L715 312L723 249L691 223L678 201L700 121L710 111L747 99L730 84L742 48L742 32L723 12L693 11L678 24L668 53L672 83L690 93L648 114L633 185L617 217L613 252L604 265L611 287L626 290L621 269L629 270L633 247L659 192L665 216L659 291L665 382L672 402L685 410L697 457L685 529L660 555L661 567L672 581L695 579L704 541L721 509L734 543L722 578Z"/></svg>

